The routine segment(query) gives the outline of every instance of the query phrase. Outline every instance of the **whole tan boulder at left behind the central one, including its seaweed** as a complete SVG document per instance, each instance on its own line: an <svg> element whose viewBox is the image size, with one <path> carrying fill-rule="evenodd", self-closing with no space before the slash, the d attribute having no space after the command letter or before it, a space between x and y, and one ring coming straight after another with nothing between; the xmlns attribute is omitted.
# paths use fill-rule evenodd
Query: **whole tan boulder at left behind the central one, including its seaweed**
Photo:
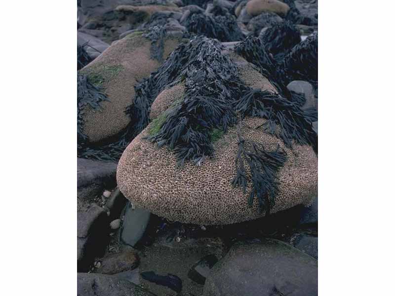
<svg viewBox="0 0 395 296"><path fill-rule="evenodd" d="M118 160L136 135L127 114L135 87L155 71L181 36L154 27L118 40L79 71L78 156Z"/></svg>

